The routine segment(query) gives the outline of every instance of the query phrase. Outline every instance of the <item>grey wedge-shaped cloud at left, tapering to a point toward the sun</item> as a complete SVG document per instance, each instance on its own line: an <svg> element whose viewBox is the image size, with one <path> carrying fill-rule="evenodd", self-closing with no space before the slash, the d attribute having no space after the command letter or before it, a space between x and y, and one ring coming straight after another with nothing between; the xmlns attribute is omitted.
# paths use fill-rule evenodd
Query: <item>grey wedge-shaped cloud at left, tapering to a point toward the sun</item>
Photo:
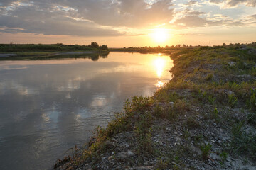
<svg viewBox="0 0 256 170"><path fill-rule="evenodd" d="M102 28L90 21L76 21L63 12L38 11L36 7L25 6L11 11L10 15L0 16L0 30L4 33L43 33L44 35L79 35L79 36L116 36L122 35L117 30ZM19 29L12 29L19 28Z"/></svg>

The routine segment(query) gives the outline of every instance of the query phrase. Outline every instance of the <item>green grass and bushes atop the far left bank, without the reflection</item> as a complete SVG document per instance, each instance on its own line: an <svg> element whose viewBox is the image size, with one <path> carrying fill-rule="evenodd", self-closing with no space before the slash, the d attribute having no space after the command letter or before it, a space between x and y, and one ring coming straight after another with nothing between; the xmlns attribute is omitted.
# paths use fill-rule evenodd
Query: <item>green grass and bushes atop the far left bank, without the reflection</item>
<svg viewBox="0 0 256 170"><path fill-rule="evenodd" d="M0 52L50 52L50 51L96 51L109 50L107 45L98 45L92 42L90 45L63 45L62 43L42 44L0 44Z"/></svg>

